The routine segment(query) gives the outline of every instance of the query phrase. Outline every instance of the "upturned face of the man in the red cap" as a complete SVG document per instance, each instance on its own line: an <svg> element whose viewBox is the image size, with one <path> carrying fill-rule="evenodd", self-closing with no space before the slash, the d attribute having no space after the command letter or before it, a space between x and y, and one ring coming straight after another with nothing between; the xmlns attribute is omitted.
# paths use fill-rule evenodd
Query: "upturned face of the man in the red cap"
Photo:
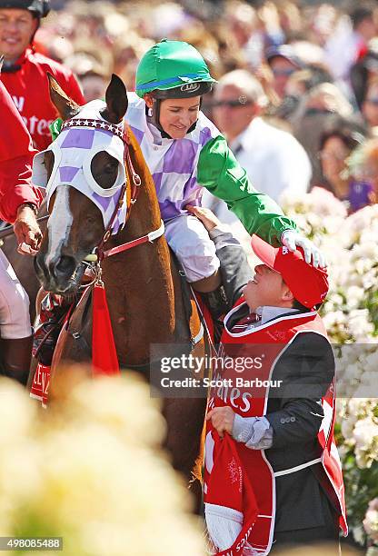
<svg viewBox="0 0 378 556"><path fill-rule="evenodd" d="M258 264L254 272L254 279L250 280L243 290L245 301L252 311L264 305L291 307L293 294L280 273L276 273L266 264Z"/></svg>

